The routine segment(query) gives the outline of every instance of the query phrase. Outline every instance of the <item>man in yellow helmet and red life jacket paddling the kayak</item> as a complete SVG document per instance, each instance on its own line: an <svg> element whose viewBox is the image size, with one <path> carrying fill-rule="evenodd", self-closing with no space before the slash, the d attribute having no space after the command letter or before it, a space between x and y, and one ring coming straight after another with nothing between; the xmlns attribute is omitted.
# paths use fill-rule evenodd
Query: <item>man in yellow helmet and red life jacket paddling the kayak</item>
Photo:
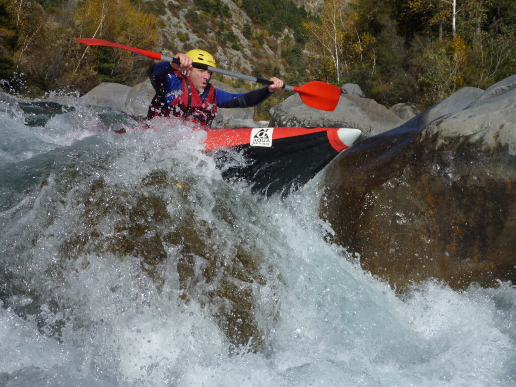
<svg viewBox="0 0 516 387"><path fill-rule="evenodd" d="M203 50L177 54L179 64L158 62L149 69L149 79L156 91L147 119L156 116L179 117L209 126L217 115L217 107L251 107L265 101L283 87L283 80L269 78L272 85L247 93L229 93L209 83L212 73L192 67L192 62L216 67L213 56Z"/></svg>

